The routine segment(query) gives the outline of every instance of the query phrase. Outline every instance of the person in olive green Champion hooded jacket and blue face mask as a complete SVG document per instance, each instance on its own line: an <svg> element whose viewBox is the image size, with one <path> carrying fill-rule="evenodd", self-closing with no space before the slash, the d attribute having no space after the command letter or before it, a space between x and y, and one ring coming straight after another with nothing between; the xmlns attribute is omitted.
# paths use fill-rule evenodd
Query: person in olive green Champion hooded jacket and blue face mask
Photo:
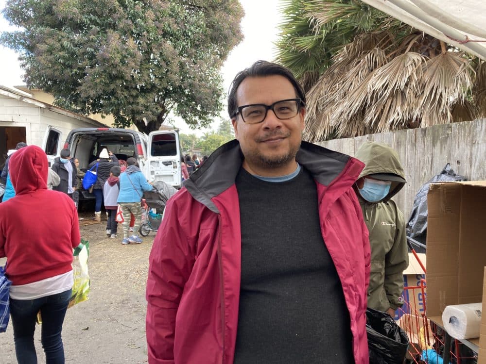
<svg viewBox="0 0 486 364"><path fill-rule="evenodd" d="M403 305L408 247L403 213L391 198L405 185L405 174L397 152L387 144L365 142L356 158L365 164L355 190L371 246L368 307L393 317Z"/></svg>

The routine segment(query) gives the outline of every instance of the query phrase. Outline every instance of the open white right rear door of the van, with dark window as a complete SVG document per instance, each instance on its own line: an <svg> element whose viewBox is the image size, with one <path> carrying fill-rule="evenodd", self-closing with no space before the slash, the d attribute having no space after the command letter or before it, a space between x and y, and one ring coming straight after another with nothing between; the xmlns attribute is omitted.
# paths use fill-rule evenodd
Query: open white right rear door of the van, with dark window
<svg viewBox="0 0 486 364"><path fill-rule="evenodd" d="M180 143L176 129L149 133L145 168L150 181L163 181L181 187Z"/></svg>

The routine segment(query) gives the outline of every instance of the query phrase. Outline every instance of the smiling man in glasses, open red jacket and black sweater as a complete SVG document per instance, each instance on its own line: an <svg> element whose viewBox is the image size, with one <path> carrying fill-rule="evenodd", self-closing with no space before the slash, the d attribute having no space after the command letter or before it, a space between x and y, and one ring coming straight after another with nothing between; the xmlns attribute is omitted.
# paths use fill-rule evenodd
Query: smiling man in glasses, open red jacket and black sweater
<svg viewBox="0 0 486 364"><path fill-rule="evenodd" d="M149 363L367 364L363 164L302 142L305 93L259 61L228 95L236 140L168 201L150 254Z"/></svg>

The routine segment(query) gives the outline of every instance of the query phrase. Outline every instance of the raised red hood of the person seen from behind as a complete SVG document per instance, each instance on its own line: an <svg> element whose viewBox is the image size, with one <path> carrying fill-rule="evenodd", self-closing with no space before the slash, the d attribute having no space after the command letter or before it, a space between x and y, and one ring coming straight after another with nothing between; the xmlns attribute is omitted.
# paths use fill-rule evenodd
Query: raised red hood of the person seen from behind
<svg viewBox="0 0 486 364"><path fill-rule="evenodd" d="M48 163L46 153L31 145L12 154L9 174L16 195L47 189Z"/></svg>

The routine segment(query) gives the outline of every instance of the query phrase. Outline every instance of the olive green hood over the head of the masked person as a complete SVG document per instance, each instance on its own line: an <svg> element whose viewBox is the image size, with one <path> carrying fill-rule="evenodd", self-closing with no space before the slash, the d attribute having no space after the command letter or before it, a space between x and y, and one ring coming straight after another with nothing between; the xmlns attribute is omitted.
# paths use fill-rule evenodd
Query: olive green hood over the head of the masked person
<svg viewBox="0 0 486 364"><path fill-rule="evenodd" d="M388 144L366 141L358 148L355 157L365 164L360 178L377 175L376 178L379 180L392 181L390 192L383 199L384 201L395 196L405 185L405 172L398 153ZM386 175L389 177L387 178Z"/></svg>

